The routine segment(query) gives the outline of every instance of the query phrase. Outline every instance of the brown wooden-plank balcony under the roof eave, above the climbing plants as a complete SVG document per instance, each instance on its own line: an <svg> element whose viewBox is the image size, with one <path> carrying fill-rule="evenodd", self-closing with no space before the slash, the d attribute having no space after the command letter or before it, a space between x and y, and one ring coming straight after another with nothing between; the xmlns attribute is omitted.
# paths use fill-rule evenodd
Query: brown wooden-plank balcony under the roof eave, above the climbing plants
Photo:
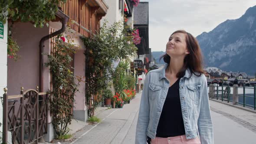
<svg viewBox="0 0 256 144"><path fill-rule="evenodd" d="M99 32L100 20L108 6L103 0L67 0L61 10L70 17L68 26L83 36Z"/></svg>

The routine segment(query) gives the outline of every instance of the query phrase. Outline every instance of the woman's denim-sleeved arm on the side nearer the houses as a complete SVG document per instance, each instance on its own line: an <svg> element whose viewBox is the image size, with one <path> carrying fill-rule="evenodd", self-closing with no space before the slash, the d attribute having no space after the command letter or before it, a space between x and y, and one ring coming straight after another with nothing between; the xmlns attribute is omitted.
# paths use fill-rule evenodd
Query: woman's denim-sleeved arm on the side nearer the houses
<svg viewBox="0 0 256 144"><path fill-rule="evenodd" d="M147 144L147 129L149 122L148 88L150 74L151 73L148 73L146 76L146 79L144 81L144 88L141 94L141 105L138 115L135 144Z"/></svg>

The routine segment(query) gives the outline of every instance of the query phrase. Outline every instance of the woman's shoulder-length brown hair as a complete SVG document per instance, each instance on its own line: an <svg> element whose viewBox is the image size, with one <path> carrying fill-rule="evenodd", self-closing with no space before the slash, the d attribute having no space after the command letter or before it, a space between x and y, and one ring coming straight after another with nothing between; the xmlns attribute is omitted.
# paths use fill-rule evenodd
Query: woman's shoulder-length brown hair
<svg viewBox="0 0 256 144"><path fill-rule="evenodd" d="M177 73L177 77L181 78L185 75L187 69L194 75L200 76L203 73L203 56L197 39L190 33L184 30L177 30L174 33L184 33L186 34L187 49L190 52L184 58L184 66L180 72ZM171 35L173 35L172 33ZM160 60L164 58L164 62L170 64L171 57L165 53L161 56ZM191 76L191 75L190 75Z"/></svg>

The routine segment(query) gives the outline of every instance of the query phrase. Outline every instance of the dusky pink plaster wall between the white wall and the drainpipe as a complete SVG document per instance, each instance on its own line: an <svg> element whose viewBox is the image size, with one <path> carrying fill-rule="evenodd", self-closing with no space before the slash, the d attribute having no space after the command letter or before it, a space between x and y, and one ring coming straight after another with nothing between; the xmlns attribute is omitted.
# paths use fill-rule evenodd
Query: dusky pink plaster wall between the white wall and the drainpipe
<svg viewBox="0 0 256 144"><path fill-rule="evenodd" d="M16 62L9 58L7 60L8 95L20 94L20 87L26 90L39 86L39 41L47 34L49 28L46 26L35 28L32 23L14 23L12 36L20 46L17 53L20 59Z"/></svg>

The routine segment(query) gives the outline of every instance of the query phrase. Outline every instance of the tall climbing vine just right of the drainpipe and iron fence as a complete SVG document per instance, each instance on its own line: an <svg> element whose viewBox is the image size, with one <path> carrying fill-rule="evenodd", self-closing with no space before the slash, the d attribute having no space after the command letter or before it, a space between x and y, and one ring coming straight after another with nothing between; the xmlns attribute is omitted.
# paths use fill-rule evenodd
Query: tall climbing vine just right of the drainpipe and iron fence
<svg viewBox="0 0 256 144"><path fill-rule="evenodd" d="M75 92L78 92L79 83L82 77L75 76L72 72L70 63L72 55L75 53L75 46L69 38L65 42L65 38L61 35L55 39L55 52L52 55L47 54L49 66L52 74L53 90L50 92L50 112L52 114L52 123L58 137L69 132L68 124L71 123L72 107L74 103Z"/></svg>

